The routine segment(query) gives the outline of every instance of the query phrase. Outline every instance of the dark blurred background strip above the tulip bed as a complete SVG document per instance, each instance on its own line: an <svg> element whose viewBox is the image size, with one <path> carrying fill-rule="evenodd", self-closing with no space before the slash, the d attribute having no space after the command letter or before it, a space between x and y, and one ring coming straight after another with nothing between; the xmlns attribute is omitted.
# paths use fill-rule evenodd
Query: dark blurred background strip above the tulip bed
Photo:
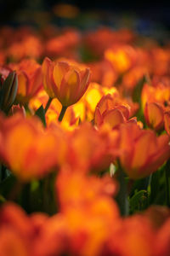
<svg viewBox="0 0 170 256"><path fill-rule="evenodd" d="M170 3L159 1L0 0L1 25L128 27L146 34L170 29Z"/></svg>

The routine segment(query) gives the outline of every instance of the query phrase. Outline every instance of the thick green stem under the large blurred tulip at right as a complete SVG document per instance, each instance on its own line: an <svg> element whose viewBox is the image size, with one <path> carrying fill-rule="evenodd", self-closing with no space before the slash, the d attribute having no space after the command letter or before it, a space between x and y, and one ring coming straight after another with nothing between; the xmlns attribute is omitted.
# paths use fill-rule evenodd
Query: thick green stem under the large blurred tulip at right
<svg viewBox="0 0 170 256"><path fill-rule="evenodd" d="M127 216L129 212L129 206L128 206L128 199L127 199L127 182L126 182L126 175L122 171L122 168L119 165L119 170L117 171L117 179L119 182L119 192L116 196L116 201L118 203L118 206L120 208L120 212L122 216Z"/></svg>

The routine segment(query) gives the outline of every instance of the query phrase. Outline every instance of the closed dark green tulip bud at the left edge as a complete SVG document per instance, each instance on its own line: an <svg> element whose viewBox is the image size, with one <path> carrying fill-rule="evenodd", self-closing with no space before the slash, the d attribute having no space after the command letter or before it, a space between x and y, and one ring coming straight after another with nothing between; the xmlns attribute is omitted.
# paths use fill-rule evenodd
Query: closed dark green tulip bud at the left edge
<svg viewBox="0 0 170 256"><path fill-rule="evenodd" d="M0 86L0 109L3 112L8 113L9 108L14 103L18 90L18 79L15 72L8 74L8 77L3 80L1 79Z"/></svg>

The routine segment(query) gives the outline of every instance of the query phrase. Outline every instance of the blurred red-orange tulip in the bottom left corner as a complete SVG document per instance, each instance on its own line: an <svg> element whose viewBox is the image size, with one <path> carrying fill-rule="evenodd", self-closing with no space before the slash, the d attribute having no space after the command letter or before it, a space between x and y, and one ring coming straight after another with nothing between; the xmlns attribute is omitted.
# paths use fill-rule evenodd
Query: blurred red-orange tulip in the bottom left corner
<svg viewBox="0 0 170 256"><path fill-rule="evenodd" d="M0 211L0 255L30 255L33 231L26 212L14 203L5 203Z"/></svg>

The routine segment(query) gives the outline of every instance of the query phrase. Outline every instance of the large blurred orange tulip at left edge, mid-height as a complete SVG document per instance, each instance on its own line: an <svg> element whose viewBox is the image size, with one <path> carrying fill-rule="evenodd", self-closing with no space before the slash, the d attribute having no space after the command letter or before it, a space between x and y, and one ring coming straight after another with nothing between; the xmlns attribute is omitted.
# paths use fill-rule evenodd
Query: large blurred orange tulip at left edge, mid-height
<svg viewBox="0 0 170 256"><path fill-rule="evenodd" d="M44 130L39 119L25 119L20 113L1 116L0 124L1 160L21 180L43 177L64 160L66 144L59 128Z"/></svg>

